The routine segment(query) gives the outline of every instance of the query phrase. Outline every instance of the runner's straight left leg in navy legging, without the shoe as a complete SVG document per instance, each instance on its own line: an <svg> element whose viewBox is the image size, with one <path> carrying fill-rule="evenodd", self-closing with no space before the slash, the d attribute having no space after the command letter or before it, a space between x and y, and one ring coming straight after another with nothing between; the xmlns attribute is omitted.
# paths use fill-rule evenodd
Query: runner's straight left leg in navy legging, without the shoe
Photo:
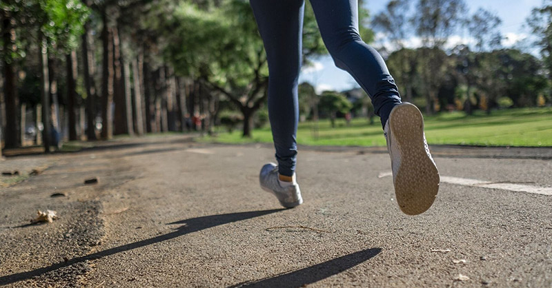
<svg viewBox="0 0 552 288"><path fill-rule="evenodd" d="M250 0L268 61L268 118L279 174L293 176L297 158L304 0Z"/></svg>

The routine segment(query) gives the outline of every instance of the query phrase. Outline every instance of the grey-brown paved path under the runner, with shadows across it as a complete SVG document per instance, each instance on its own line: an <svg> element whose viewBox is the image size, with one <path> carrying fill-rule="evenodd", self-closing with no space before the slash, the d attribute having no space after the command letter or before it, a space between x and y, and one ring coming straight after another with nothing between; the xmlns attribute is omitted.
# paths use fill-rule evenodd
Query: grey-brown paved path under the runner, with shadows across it
<svg viewBox="0 0 552 288"><path fill-rule="evenodd" d="M551 150L435 147L449 181L421 216L400 212L378 149L300 150L295 209L258 187L268 145L172 136L8 158L49 168L0 187L0 284L551 287ZM28 225L46 208L59 220Z"/></svg>

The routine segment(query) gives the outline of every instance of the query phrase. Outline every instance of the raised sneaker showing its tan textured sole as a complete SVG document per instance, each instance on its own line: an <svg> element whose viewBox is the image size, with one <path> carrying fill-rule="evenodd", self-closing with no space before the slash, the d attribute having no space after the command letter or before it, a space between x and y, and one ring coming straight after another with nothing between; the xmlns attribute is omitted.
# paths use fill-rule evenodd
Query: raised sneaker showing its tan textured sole
<svg viewBox="0 0 552 288"><path fill-rule="evenodd" d="M397 204L405 214L422 214L433 204L440 182L422 113L411 103L399 104L391 110L384 132Z"/></svg>

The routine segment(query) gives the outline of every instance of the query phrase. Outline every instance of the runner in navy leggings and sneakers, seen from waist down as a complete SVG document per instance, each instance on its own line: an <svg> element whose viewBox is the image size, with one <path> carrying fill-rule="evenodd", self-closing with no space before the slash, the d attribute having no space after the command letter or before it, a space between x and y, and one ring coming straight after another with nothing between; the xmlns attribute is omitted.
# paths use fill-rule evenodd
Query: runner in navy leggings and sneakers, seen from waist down
<svg viewBox="0 0 552 288"><path fill-rule="evenodd" d="M262 167L259 182L286 208L303 203L295 165L304 5L304 0L250 0L268 61L268 118L277 159L277 165ZM440 176L420 110L401 101L384 59L360 38L357 0L311 0L311 6L335 65L353 76L382 120L400 209L425 212L437 196Z"/></svg>

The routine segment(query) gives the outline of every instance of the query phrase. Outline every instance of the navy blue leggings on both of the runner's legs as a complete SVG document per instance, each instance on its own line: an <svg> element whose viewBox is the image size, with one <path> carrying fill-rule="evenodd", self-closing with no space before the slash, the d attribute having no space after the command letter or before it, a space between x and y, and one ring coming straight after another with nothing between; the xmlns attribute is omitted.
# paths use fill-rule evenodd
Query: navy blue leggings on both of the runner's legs
<svg viewBox="0 0 552 288"><path fill-rule="evenodd" d="M268 118L279 173L292 176L297 159L304 0L250 0L268 60ZM382 56L360 39L357 0L311 0L326 48L335 65L366 91L385 125L401 103Z"/></svg>

